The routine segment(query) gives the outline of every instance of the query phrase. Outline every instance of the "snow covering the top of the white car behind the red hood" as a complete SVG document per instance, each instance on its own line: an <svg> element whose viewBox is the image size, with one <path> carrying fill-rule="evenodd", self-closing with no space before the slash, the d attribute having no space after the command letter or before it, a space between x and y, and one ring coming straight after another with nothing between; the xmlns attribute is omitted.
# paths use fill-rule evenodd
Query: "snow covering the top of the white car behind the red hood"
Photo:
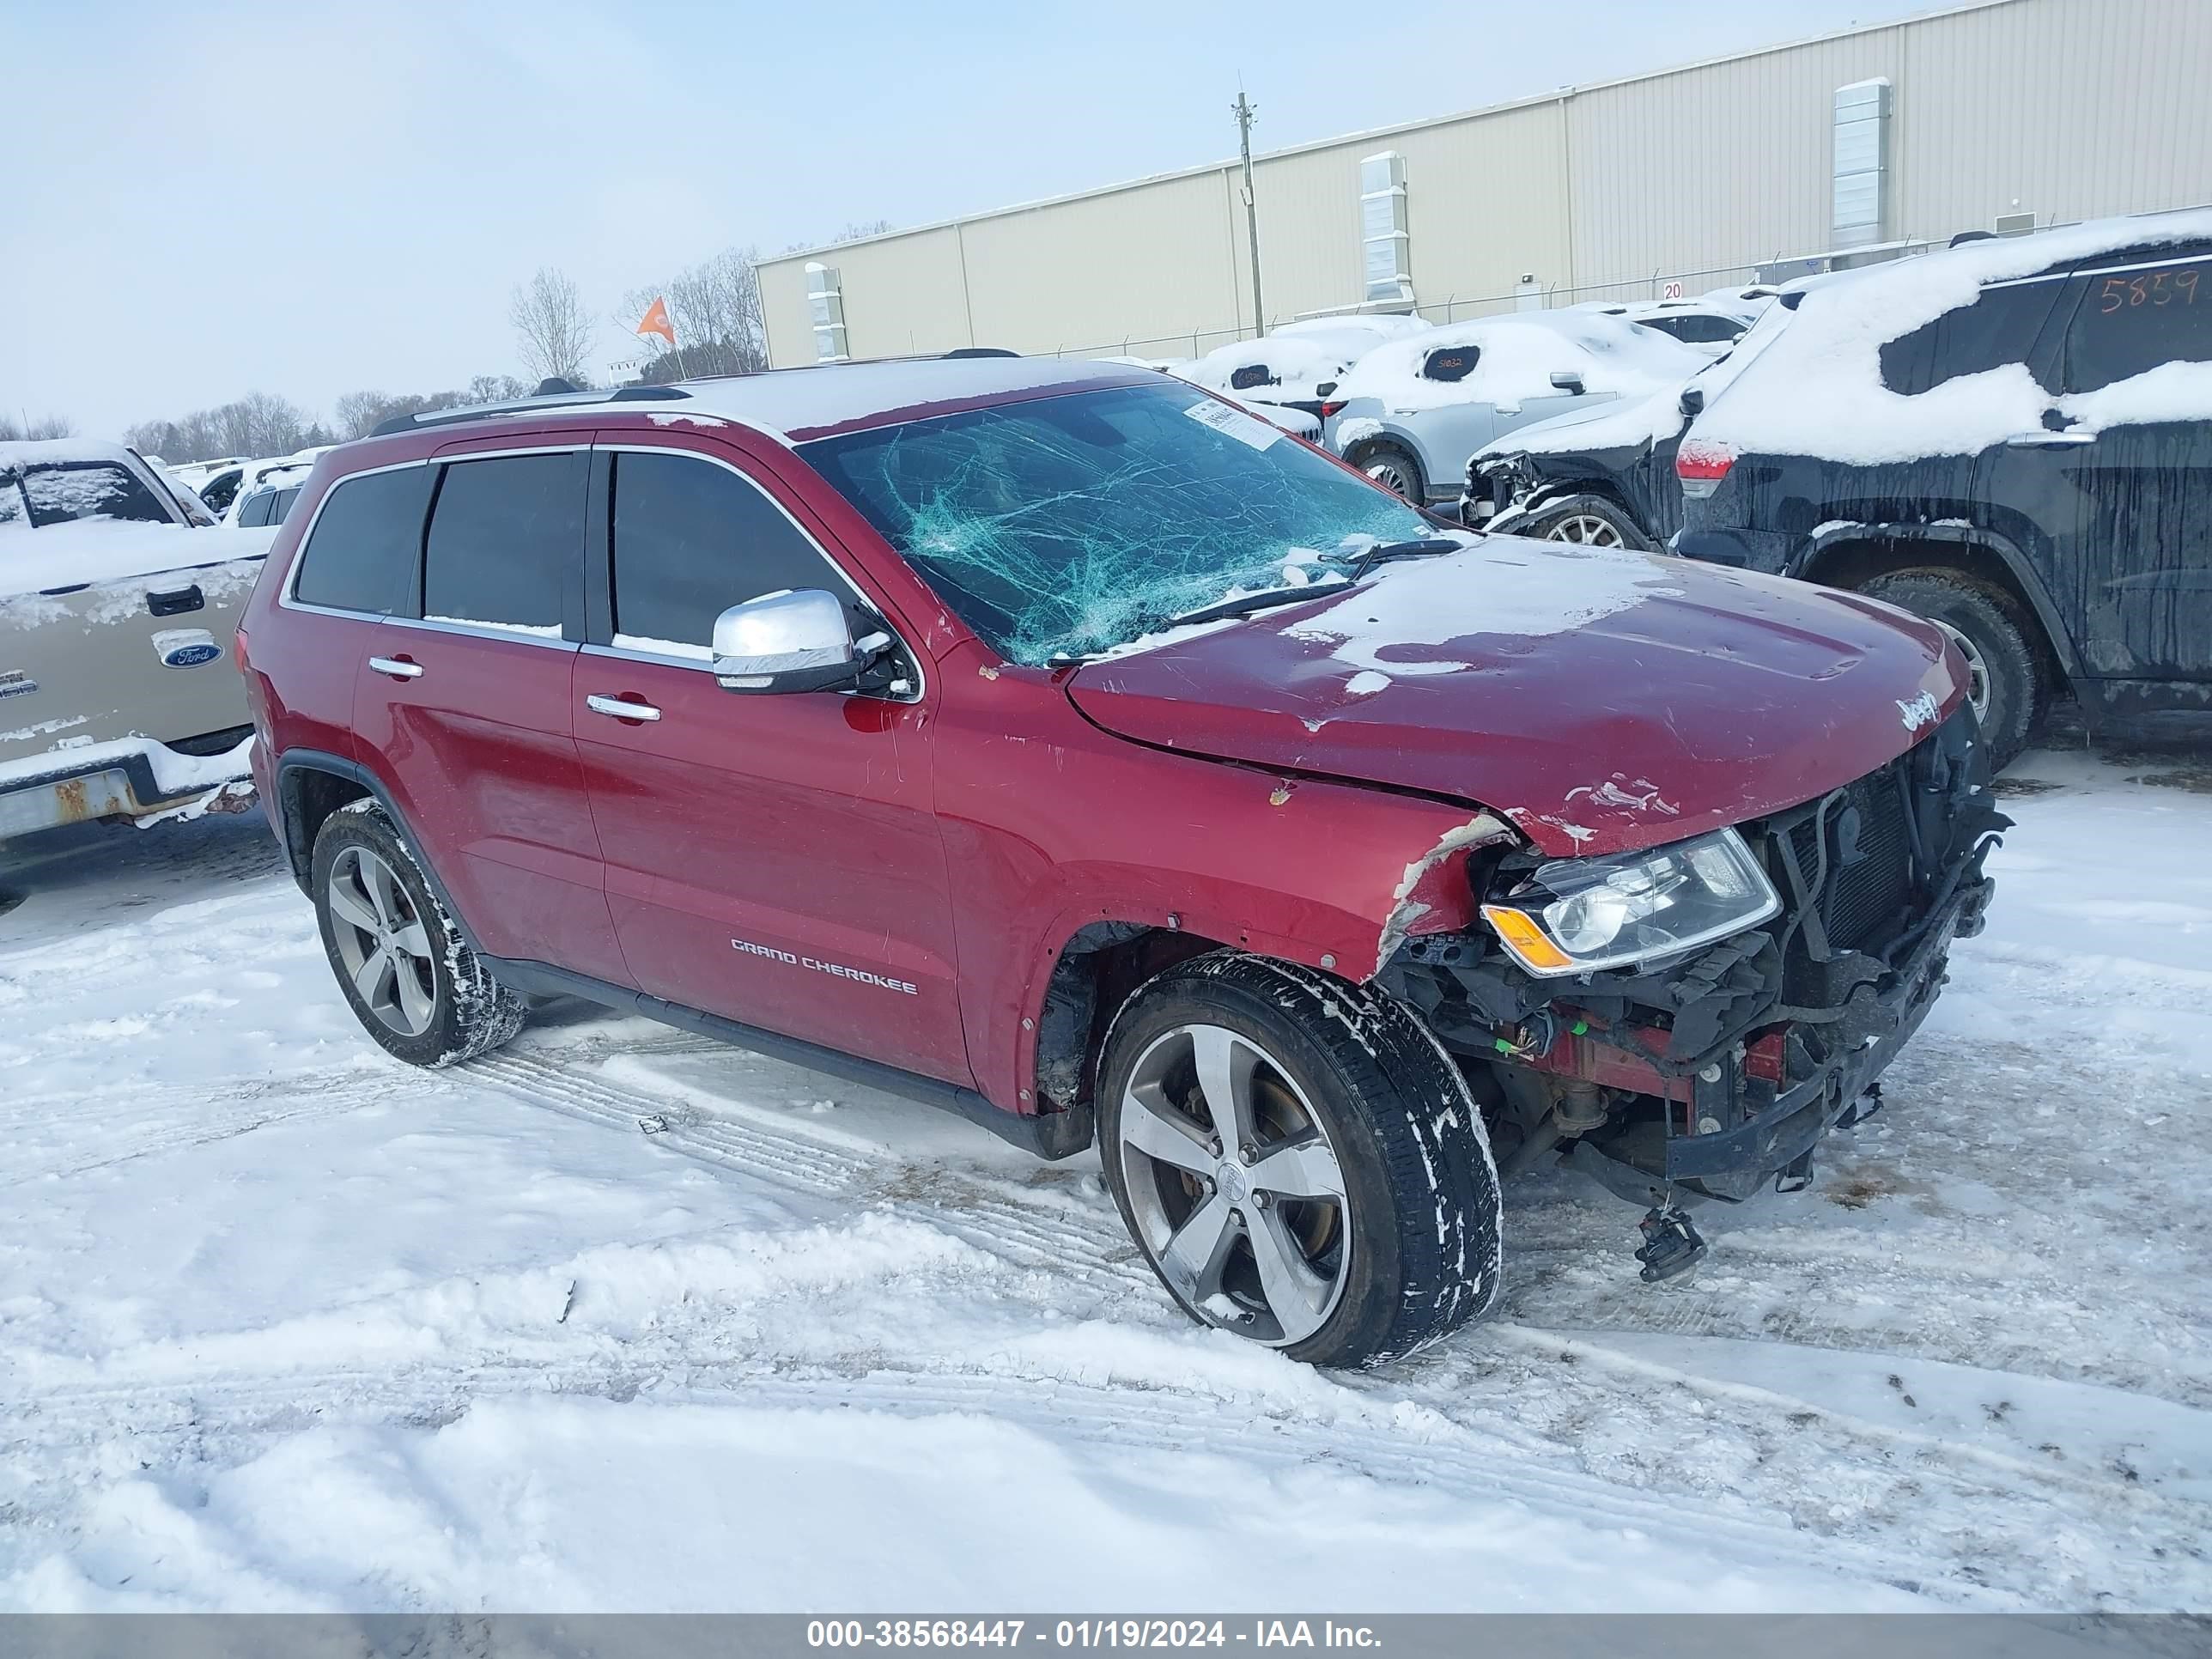
<svg viewBox="0 0 2212 1659"><path fill-rule="evenodd" d="M1464 380L1429 380L1422 365L1447 345L1480 354ZM1340 398L1391 409L1449 403L1526 403L1557 396L1553 374L1579 374L1584 392L1637 398L1679 387L1712 358L1681 341L1604 312L1506 312L1378 345L1338 383Z"/></svg>

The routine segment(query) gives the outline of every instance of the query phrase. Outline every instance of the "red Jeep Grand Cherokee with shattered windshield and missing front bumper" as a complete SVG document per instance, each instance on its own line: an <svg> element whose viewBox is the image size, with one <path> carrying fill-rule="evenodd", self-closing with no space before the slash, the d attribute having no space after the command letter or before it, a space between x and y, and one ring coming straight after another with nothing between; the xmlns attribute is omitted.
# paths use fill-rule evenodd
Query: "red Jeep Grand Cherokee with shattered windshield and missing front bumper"
<svg viewBox="0 0 2212 1659"><path fill-rule="evenodd" d="M1801 1183L1989 900L1929 624L1447 533L1157 374L392 425L239 630L369 1035L447 1064L575 993L1097 1139L1168 1292L1298 1358L1486 1310L1546 1155L1688 1265L1679 1203Z"/></svg>

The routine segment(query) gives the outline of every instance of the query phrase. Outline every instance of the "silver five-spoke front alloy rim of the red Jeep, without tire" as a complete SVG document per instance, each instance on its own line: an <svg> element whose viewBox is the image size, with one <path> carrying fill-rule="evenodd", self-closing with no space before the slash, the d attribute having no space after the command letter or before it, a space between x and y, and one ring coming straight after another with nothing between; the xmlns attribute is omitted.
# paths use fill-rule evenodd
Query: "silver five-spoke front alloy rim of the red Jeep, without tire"
<svg viewBox="0 0 2212 1659"><path fill-rule="evenodd" d="M1261 1044L1214 1024L1155 1037L1117 1155L1144 1248L1192 1312L1270 1347L1321 1329L1352 1267L1352 1208L1321 1115Z"/></svg>

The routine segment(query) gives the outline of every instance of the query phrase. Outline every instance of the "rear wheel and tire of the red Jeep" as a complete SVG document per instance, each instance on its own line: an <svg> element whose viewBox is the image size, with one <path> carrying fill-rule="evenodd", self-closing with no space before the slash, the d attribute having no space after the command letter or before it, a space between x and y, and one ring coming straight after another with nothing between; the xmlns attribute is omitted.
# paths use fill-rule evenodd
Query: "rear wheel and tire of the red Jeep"
<svg viewBox="0 0 2212 1659"><path fill-rule="evenodd" d="M484 971L376 801L323 821L310 869L330 971L387 1053L451 1066L522 1031L524 1000Z"/></svg>

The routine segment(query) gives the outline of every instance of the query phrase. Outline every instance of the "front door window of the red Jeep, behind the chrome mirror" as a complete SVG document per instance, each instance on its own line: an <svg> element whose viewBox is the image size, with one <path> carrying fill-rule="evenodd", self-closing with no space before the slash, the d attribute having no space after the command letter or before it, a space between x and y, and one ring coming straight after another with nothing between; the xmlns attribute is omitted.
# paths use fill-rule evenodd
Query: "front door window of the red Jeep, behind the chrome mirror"
<svg viewBox="0 0 2212 1659"><path fill-rule="evenodd" d="M615 633L708 646L714 617L779 588L845 580L768 495L692 456L615 456Z"/></svg>

